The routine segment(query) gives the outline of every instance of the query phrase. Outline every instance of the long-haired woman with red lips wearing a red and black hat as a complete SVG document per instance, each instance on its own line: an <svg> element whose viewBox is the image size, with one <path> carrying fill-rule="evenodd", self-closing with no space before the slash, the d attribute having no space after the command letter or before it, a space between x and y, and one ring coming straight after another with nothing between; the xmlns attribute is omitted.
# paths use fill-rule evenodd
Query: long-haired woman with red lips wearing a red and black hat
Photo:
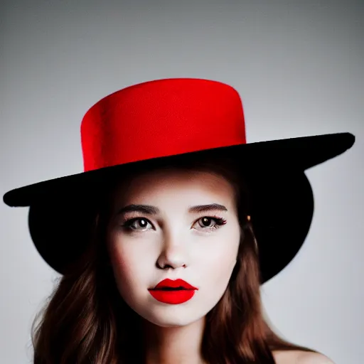
<svg viewBox="0 0 364 364"><path fill-rule="evenodd" d="M84 173L4 196L63 274L34 363L332 363L269 328L259 286L309 230L304 171L351 134L246 144L232 87L171 79L100 100L81 137Z"/></svg>

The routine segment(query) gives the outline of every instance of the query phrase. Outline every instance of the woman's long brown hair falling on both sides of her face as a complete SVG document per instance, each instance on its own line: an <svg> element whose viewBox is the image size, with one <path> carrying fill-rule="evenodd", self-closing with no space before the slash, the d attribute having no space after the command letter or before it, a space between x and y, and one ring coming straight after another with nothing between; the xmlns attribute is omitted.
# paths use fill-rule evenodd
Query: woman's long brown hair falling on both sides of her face
<svg viewBox="0 0 364 364"><path fill-rule="evenodd" d="M210 364L270 364L275 363L273 350L314 351L284 341L264 320L259 250L247 218L249 191L244 178L236 173L234 162L223 158L213 162L184 159L179 164L154 168L161 167L218 173L235 190L241 230L237 264L223 297L206 316L201 348L204 360ZM107 193L117 180L113 183ZM105 196L105 206L106 201ZM120 296L108 264L103 239L105 206L95 218L88 250L60 278L33 321L35 364L143 363L141 317Z"/></svg>

